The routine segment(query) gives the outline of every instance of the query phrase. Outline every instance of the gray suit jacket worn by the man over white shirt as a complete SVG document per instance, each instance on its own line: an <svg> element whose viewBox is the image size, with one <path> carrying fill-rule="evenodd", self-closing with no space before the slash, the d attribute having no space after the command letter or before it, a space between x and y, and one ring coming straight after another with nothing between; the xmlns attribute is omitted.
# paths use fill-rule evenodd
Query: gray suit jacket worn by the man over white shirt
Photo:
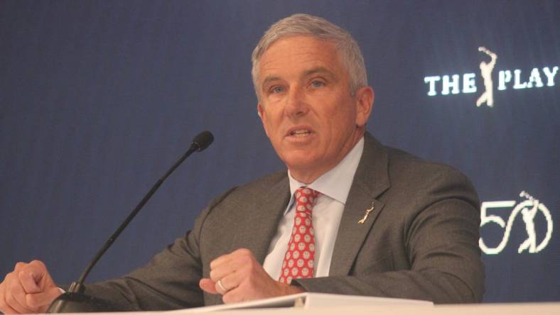
<svg viewBox="0 0 560 315"><path fill-rule="evenodd" d="M231 189L148 265L118 280L89 284L87 292L132 310L219 304L219 295L198 288L210 261L249 248L262 263L289 198L285 171ZM372 203L375 210L357 223ZM309 292L480 302L479 226L478 197L465 176L366 134L330 275L295 283Z"/></svg>

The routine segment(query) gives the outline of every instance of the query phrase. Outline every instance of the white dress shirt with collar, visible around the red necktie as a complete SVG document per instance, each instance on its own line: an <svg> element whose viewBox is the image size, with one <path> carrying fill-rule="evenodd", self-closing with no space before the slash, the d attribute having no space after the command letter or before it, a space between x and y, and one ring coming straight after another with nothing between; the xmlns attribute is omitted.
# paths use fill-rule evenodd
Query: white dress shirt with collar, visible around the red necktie
<svg viewBox="0 0 560 315"><path fill-rule="evenodd" d="M307 186L321 195L313 206L313 228L315 230L315 277L328 276L330 259L333 257L336 235L340 219L343 216L344 205L350 192L350 186L356 173L357 165L362 157L364 150L364 138L350 150L350 153L341 160L338 165L333 167L325 174L318 177L311 184L303 184L291 177L290 181L291 198L288 207L284 212L284 217L279 222L278 231L272 238L269 246L269 253L264 259L263 267L274 280L280 277L284 255L288 249L291 230L294 227L294 216L296 214L294 193L299 187Z"/></svg>

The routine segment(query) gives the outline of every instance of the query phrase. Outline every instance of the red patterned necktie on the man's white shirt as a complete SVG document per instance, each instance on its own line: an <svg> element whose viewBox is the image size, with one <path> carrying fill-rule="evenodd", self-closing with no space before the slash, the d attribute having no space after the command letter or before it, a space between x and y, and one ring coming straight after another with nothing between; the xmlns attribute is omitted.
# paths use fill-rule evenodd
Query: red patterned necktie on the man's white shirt
<svg viewBox="0 0 560 315"><path fill-rule="evenodd" d="M313 277L315 265L315 231L311 210L319 192L307 187L296 190L296 215L288 250L284 255L279 281L290 284L292 279Z"/></svg>

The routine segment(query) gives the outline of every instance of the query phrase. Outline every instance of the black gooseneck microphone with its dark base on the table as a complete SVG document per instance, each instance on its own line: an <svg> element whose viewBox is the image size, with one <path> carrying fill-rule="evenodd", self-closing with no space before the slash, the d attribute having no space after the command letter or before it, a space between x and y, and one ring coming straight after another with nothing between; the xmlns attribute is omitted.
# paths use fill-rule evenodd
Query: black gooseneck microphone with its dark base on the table
<svg viewBox="0 0 560 315"><path fill-rule="evenodd" d="M101 250L97 252L93 260L90 262L90 265L87 265L84 272L82 272L82 275L80 275L80 279L77 280L77 282L72 282L72 284L70 284L70 288L68 289L68 292L65 292L60 296L58 296L53 301L53 303L50 304L47 313L126 311L126 309L122 309L122 307L119 307L112 302L109 302L104 299L99 299L97 297L90 297L89 295L84 294L83 292L85 288L83 284L85 278L87 277L87 275L90 274L90 271L95 266L97 261L99 261L102 255L109 249L109 247L111 247L111 245L114 243L117 237L119 237L119 235L124 230L124 228L126 228L126 226L129 225L130 221L134 219L134 216L138 214L140 209L144 207L144 204L146 204L146 202L148 202L148 200L156 192L156 190L158 190L158 188L161 186L163 181L165 181L166 178L169 175L171 175L171 173L174 170L176 170L176 168L179 165L181 165L181 163L187 157L189 157L189 155L193 154L195 151L200 152L205 148L208 148L208 146L212 143L213 140L214 140L214 136L212 136L212 133L210 131L203 131L199 133L197 136L195 136L195 138L193 138L193 141L190 143L190 147L188 148L187 152L185 152L185 154L183 154L183 156L180 157L171 166L171 168L165 174L163 174L163 176L160 179L158 179L156 184L154 184L154 186L151 187L150 191L146 194L146 196L142 198L139 204L134 208L134 210L132 210L129 216L126 217L126 219L124 220L123 223L121 223L119 228L117 228L117 231L114 231L112 236L109 237L109 239L105 242Z"/></svg>

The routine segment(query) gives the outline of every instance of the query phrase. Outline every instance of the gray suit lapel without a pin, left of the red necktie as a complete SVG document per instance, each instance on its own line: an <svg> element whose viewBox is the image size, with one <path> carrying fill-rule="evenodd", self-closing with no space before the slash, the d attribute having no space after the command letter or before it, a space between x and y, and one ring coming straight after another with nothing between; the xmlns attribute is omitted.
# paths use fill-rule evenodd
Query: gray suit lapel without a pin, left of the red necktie
<svg viewBox="0 0 560 315"><path fill-rule="evenodd" d="M248 248L261 264L290 199L287 176L267 188L266 193L247 202L243 205L244 209L239 211L239 215L245 219L232 242L232 249Z"/></svg>

